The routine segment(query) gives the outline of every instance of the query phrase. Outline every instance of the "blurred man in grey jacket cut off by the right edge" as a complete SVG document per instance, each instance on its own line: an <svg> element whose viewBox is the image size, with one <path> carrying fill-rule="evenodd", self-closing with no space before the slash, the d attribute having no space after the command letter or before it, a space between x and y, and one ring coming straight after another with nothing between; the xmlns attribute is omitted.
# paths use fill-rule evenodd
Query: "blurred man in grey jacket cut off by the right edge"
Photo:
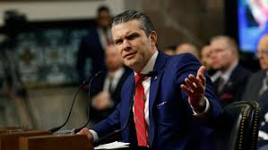
<svg viewBox="0 0 268 150"><path fill-rule="evenodd" d="M260 104L259 142L260 150L268 148L268 35L260 38L257 46L257 57L261 70L255 72L248 80L243 100L257 101Z"/></svg>

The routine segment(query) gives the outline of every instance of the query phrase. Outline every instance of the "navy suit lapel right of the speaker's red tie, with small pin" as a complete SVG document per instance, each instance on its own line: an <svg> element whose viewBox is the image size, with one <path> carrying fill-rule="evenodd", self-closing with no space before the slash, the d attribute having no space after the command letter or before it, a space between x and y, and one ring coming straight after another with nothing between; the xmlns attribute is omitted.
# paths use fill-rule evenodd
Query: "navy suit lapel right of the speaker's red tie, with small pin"
<svg viewBox="0 0 268 150"><path fill-rule="evenodd" d="M153 70L157 71L158 74L155 77L151 77L151 86L150 86L150 97L149 97L149 119L150 119L150 145L152 145L154 134L155 134L155 124L154 124L154 115L153 115L153 105L158 93L158 87L160 84L160 79L163 74L163 67L166 64L167 55L159 52L156 63L154 64Z"/></svg>

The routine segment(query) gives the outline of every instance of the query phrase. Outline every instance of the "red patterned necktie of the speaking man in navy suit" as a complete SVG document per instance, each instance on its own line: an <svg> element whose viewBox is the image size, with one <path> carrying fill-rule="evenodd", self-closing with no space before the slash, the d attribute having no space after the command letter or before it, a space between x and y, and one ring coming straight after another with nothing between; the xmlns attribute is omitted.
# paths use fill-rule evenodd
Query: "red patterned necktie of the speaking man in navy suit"
<svg viewBox="0 0 268 150"><path fill-rule="evenodd" d="M143 78L142 73L135 75L136 89L134 95L134 122L138 139L138 146L148 146L147 125L144 118L145 95L142 84L143 79L141 80L141 78ZM138 82L138 80L140 81Z"/></svg>

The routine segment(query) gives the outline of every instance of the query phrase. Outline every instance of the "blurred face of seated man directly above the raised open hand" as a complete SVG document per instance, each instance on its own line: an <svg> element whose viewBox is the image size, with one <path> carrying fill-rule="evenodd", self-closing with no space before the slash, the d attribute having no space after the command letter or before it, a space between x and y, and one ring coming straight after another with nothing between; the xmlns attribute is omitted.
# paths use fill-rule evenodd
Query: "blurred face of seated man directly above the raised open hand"
<svg viewBox="0 0 268 150"><path fill-rule="evenodd" d="M236 59L225 39L214 39L211 43L211 65L214 70L225 71Z"/></svg>

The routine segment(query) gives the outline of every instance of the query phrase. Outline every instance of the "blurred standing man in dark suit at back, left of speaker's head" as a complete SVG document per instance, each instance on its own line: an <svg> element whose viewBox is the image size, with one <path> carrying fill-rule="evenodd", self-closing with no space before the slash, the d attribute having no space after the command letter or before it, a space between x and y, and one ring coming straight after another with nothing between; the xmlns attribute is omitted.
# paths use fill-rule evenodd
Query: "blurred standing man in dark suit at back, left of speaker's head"
<svg viewBox="0 0 268 150"><path fill-rule="evenodd" d="M100 6L97 11L97 27L90 29L87 36L82 37L77 54L76 68L80 81L85 77L85 63L91 59L91 76L98 71L106 70L104 55L106 47L113 42L110 30L111 16L108 7Z"/></svg>

